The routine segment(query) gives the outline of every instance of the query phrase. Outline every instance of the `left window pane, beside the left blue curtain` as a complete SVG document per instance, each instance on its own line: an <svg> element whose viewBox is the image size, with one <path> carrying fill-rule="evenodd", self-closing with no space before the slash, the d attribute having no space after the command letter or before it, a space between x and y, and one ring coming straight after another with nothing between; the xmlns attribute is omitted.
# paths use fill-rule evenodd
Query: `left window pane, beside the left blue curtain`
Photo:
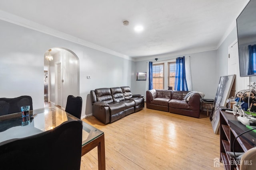
<svg viewBox="0 0 256 170"><path fill-rule="evenodd" d="M153 64L153 89L164 89L164 64Z"/></svg>

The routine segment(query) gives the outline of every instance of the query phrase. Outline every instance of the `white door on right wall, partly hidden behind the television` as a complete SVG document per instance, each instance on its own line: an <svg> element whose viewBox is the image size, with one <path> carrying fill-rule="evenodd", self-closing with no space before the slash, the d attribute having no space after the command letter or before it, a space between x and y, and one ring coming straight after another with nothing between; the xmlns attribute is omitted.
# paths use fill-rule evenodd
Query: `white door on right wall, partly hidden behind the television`
<svg viewBox="0 0 256 170"><path fill-rule="evenodd" d="M248 89L249 77L240 77L237 41L228 48L228 75L230 74L236 74L236 92Z"/></svg>

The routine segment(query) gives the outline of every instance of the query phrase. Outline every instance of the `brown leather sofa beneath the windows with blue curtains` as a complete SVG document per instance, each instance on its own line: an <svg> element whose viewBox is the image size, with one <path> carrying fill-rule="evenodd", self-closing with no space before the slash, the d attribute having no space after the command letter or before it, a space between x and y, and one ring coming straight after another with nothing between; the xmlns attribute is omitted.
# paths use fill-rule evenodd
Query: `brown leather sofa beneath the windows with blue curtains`
<svg viewBox="0 0 256 170"><path fill-rule="evenodd" d="M184 97L189 91L175 90L148 90L146 92L146 107L186 115L191 117L200 116L200 94L192 94L188 101Z"/></svg>

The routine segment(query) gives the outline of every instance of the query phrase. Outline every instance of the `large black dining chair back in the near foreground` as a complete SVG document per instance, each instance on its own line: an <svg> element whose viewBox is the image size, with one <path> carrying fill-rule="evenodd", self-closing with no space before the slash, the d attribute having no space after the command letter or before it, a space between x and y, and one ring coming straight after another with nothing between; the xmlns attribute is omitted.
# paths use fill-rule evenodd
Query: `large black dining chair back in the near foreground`
<svg viewBox="0 0 256 170"><path fill-rule="evenodd" d="M0 143L0 170L80 170L82 121Z"/></svg>

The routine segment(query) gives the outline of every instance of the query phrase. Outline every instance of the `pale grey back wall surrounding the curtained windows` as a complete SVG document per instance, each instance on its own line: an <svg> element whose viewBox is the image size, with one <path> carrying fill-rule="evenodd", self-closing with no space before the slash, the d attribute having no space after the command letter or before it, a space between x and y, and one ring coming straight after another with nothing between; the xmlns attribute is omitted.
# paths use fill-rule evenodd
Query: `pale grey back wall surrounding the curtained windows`
<svg viewBox="0 0 256 170"><path fill-rule="evenodd" d="M166 57L165 55L164 58L159 55L156 58L158 58L157 63L167 63L169 61L166 60L176 59L176 57L182 56L190 56L190 69L193 90L203 92L205 94L204 98L214 99L216 95L216 83L218 85L218 82L216 82L216 50L186 55L181 54L179 56L170 57ZM147 72L148 74L149 61L154 62L154 59L136 62L134 74L136 75L136 72ZM166 69L167 68L165 68L165 70ZM148 90L148 77L147 81L136 81L135 75L134 78L132 78L132 89L136 94L143 94L146 99L146 90ZM167 86L164 88L168 89Z"/></svg>

